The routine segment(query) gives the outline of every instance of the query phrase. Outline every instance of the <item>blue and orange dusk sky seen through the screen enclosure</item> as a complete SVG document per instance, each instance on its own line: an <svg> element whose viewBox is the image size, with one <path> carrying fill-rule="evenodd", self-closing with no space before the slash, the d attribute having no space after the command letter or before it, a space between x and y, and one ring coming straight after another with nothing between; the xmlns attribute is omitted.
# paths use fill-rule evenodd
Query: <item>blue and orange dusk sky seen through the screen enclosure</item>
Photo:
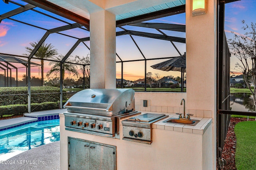
<svg viewBox="0 0 256 170"><path fill-rule="evenodd" d="M21 0L14 0L20 4L25 5L26 3ZM237 2L232 2L226 4L226 13L225 13L225 32L227 38L232 38L233 34L230 33L234 31L238 34L244 34L244 30L241 29L243 26L241 20L245 20L246 23L250 24L250 22L256 22L256 13L255 8L256 1L255 0L241 0ZM2 0L0 1L0 15L19 8L19 6L9 3L5 4ZM40 8L34 8L35 10L45 12ZM74 23L73 21L67 20L65 18L56 16L50 12L46 12L49 15L55 16L60 18L64 21L68 21L69 23ZM26 23L30 23L36 25L38 27L42 27L45 29L52 29L54 27L60 27L66 25L66 23L54 20L52 18L48 18L43 16L42 14L38 14L34 11L27 11L22 14L18 14L16 16L11 17L14 20L20 20ZM148 21L152 22L152 21ZM165 18L160 18L154 20L154 22L159 23L176 23L185 25L185 14L178 14L175 16L169 16ZM155 29L145 29L141 27L134 27L134 26L124 26L126 29L136 30L136 31L146 31L149 33L158 33ZM117 31L121 31L120 28L117 28ZM38 41L42 38L46 31L43 29L38 29L35 27L31 27L25 25L23 23L18 23L13 20L5 19L2 20L0 23L0 53L8 53L8 54L15 54L15 55L22 55L28 54L26 52L25 47L30 46L29 43L33 41ZM72 29L68 31L63 31L62 33L82 38L82 37L89 37L90 33L83 29ZM177 37L184 37L185 33L179 33L174 31L164 31L167 35L170 36L177 36ZM160 58L160 57L175 57L179 56L177 51L171 45L170 41L163 41L163 40L156 40L156 39L149 39L145 37L138 37L133 36L136 43L140 47L142 53L145 55L147 59L152 58ZM62 55L66 55L66 53L70 50L70 48L74 45L77 40L71 37L66 37L57 33L50 35L46 39L46 43L51 43L58 49L58 53ZM90 42L85 42L86 45L90 47ZM186 52L186 45L182 43L175 43L178 47L180 53L184 54ZM71 54L72 56L79 55L80 57L86 57L90 51L85 47L84 44L80 43L75 51ZM132 42L132 39L129 35L122 35L116 37L116 53L122 58L123 61L127 60L134 60L134 59L143 59L142 55L138 51L137 47ZM117 58L116 61L119 61ZM157 72L161 76L167 76L172 74L174 77L180 76L180 72L164 72L158 71L150 66L153 64L160 63L164 60L156 60L156 61L147 61L147 72ZM34 63L39 63L38 60L32 60ZM234 64L236 60L234 57L231 57L231 66L230 69L234 68ZM45 62L44 66L45 73L50 69L48 63ZM32 67L32 76L40 77L38 75L38 66ZM25 74L25 69L18 69L19 70L19 79L21 76ZM234 70L232 70L234 71ZM3 71L0 70L0 74L4 74ZM15 71L13 71L12 77L15 76ZM116 78L121 78L121 64L116 64ZM131 62L131 63L124 63L124 79L126 80L137 80L139 78L144 78L144 61L141 62Z"/></svg>

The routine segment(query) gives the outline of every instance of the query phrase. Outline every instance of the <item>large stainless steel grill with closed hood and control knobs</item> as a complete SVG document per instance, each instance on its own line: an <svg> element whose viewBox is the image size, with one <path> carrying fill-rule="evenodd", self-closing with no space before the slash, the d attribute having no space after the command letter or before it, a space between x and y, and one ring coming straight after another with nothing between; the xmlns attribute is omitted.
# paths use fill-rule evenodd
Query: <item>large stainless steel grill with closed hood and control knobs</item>
<svg viewBox="0 0 256 170"><path fill-rule="evenodd" d="M66 130L119 138L120 119L140 114L134 111L132 89L86 89L64 105Z"/></svg>

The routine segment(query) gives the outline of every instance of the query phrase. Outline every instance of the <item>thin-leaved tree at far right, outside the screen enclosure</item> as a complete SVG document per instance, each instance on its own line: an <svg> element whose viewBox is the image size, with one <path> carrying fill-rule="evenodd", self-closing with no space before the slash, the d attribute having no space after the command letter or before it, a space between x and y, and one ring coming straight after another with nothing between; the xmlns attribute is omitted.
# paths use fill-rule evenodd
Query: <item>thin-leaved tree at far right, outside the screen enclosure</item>
<svg viewBox="0 0 256 170"><path fill-rule="evenodd" d="M248 31L244 35L237 35L234 32L234 38L228 39L230 53L234 55L240 63L236 63L235 69L241 71L244 75L246 85L250 87L250 81L253 83L254 88L249 88L253 95L254 106L256 106L256 23L247 25L245 24L242 29Z"/></svg>

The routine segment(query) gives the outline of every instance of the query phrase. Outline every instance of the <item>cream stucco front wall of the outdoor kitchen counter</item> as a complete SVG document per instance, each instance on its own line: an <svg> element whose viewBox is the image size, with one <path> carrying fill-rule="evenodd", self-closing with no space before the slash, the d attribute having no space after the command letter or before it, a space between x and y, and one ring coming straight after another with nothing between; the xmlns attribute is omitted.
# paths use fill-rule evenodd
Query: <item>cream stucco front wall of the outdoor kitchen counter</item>
<svg viewBox="0 0 256 170"><path fill-rule="evenodd" d="M212 157L203 147L211 141L211 127L208 129L204 135L153 129L153 142L147 145L122 140L122 130L120 139L66 131L64 115L60 114L61 169L68 169L68 137L74 137L116 146L117 170L210 170L203 168L212 166Z"/></svg>

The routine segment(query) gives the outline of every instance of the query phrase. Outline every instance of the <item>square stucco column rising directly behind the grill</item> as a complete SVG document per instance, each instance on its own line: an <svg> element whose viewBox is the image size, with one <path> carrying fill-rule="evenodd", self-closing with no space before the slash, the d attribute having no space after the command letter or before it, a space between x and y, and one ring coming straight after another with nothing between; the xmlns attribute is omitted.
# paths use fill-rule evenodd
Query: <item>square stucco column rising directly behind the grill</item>
<svg viewBox="0 0 256 170"><path fill-rule="evenodd" d="M116 16L90 14L90 88L116 88Z"/></svg>

